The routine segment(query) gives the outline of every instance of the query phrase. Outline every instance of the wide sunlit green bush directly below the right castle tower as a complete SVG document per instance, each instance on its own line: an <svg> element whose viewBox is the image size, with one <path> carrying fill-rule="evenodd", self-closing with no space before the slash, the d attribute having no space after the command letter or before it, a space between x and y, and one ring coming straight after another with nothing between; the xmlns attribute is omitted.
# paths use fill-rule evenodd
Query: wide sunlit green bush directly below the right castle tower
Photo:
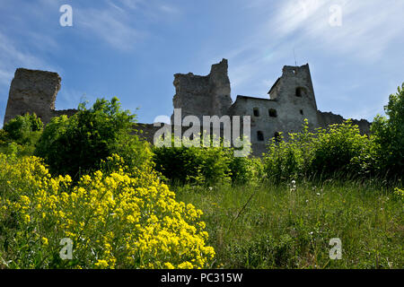
<svg viewBox="0 0 404 287"><path fill-rule="evenodd" d="M360 135L351 120L342 124L303 131L273 138L264 155L264 170L274 182L299 177L333 177L364 175L373 163L374 144L367 135Z"/></svg>

